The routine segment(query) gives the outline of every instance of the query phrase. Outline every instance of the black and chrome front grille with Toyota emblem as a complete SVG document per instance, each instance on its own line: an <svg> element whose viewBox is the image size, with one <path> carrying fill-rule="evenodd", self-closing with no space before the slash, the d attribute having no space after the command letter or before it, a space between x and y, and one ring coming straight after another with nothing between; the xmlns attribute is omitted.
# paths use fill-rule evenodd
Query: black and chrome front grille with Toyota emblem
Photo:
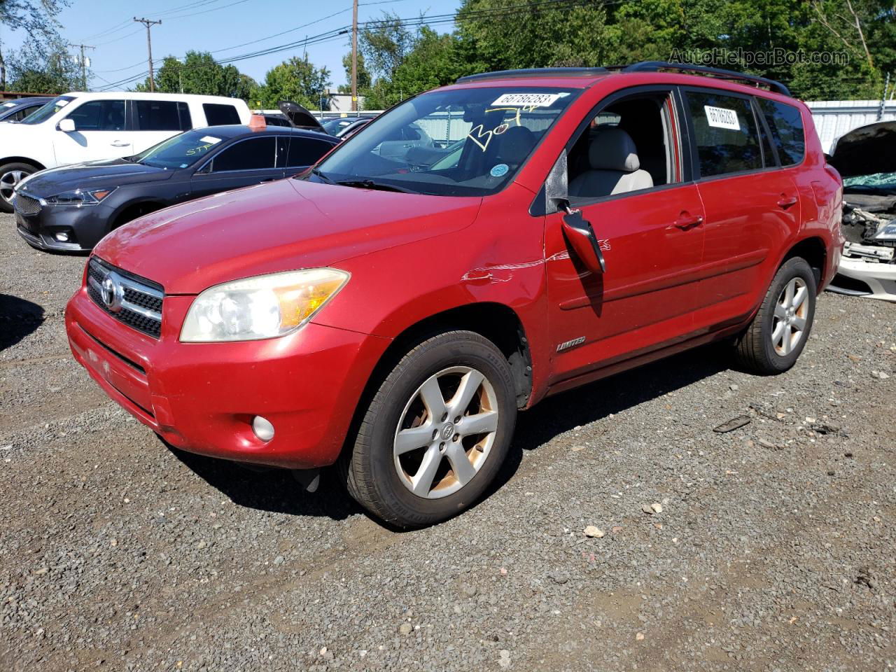
<svg viewBox="0 0 896 672"><path fill-rule="evenodd" d="M103 283L107 281L104 292ZM94 256L90 257L87 266L87 293L97 306L119 322L159 338L165 296L159 284L117 269Z"/></svg>

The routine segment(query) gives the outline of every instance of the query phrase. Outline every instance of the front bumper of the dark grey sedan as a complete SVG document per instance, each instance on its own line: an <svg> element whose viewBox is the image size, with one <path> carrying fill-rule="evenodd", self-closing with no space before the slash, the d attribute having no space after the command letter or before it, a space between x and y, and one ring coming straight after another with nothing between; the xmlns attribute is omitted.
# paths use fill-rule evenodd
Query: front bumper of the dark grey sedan
<svg viewBox="0 0 896 672"><path fill-rule="evenodd" d="M33 215L15 211L16 230L29 245L57 252L86 252L108 233L113 210L102 203L84 207L44 205ZM56 233L69 235L68 242L56 240Z"/></svg>

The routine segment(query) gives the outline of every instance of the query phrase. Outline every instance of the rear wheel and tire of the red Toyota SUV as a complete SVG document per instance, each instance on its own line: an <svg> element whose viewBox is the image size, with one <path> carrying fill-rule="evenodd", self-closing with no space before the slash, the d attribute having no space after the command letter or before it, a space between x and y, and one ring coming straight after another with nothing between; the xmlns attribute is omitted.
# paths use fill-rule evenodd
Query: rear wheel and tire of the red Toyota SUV
<svg viewBox="0 0 896 672"><path fill-rule="evenodd" d="M812 331L816 292L815 274L805 259L793 257L781 264L759 312L737 339L740 365L762 375L793 366Z"/></svg>

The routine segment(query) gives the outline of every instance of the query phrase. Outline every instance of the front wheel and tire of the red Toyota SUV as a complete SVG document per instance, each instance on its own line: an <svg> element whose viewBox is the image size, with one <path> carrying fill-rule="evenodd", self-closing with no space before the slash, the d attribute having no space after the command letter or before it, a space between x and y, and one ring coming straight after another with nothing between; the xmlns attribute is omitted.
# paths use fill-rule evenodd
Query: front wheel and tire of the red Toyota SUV
<svg viewBox="0 0 896 672"><path fill-rule="evenodd" d="M495 479L515 424L513 376L502 352L478 333L439 334L411 349L376 390L343 458L346 487L368 512L398 527L444 521Z"/></svg>

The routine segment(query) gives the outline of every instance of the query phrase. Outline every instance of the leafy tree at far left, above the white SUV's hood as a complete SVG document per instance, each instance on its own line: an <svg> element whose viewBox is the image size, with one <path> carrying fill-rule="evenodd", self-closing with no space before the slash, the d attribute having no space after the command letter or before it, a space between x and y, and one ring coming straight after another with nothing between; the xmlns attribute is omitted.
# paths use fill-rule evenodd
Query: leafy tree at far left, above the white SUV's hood
<svg viewBox="0 0 896 672"><path fill-rule="evenodd" d="M52 40L47 45L28 41L7 60L12 90L57 94L79 90L82 86L81 65L61 40Z"/></svg>

